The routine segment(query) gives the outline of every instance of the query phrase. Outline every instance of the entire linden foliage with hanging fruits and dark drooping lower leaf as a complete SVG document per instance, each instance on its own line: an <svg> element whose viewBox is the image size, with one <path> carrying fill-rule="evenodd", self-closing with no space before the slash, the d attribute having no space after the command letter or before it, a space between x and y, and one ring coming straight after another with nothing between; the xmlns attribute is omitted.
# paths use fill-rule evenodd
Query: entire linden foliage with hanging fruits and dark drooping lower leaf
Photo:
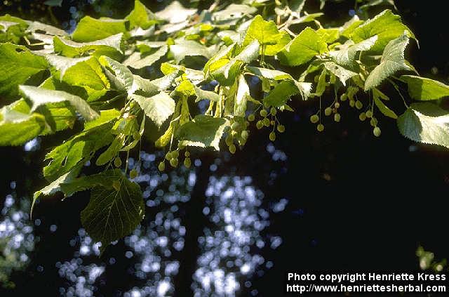
<svg viewBox="0 0 449 297"><path fill-rule="evenodd" d="M0 145L71 135L47 152L48 185L34 202L91 190L81 222L102 251L144 216L131 181L137 171L127 178L127 158L139 155L144 139L167 151L160 170L178 166L180 156L189 167L192 147L227 145L234 153L253 124L274 140L285 130L279 115L299 99L316 101L310 121L320 132L325 116L344 120L339 108L348 104L374 136L381 121L395 120L406 138L449 147L449 112L439 106L449 86L417 76L406 60L417 42L400 16L368 15L368 7L391 0L356 1L361 14L341 27L303 11L304 0L227 2L198 11L173 1L153 12L136 0L126 18L86 16L72 34L0 16ZM397 92L384 93L388 84ZM253 88L263 95L253 97L260 93ZM403 109L392 110L392 101ZM88 161L91 176L83 172Z"/></svg>

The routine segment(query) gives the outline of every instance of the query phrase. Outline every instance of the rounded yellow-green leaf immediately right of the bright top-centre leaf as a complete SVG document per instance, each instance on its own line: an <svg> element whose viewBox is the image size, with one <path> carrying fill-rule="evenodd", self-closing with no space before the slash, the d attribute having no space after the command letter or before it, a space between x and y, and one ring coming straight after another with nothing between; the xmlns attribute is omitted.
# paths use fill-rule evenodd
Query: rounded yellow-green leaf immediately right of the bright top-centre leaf
<svg viewBox="0 0 449 297"><path fill-rule="evenodd" d="M327 49L328 46L321 36L314 29L307 27L278 53L278 58L283 65L297 66L326 52Z"/></svg>

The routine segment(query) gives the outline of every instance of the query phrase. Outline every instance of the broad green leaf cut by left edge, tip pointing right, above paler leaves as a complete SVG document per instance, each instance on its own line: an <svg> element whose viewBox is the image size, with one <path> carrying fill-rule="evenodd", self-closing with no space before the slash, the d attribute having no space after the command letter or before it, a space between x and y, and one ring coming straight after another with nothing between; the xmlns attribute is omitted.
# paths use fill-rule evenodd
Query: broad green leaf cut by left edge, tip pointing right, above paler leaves
<svg viewBox="0 0 449 297"><path fill-rule="evenodd" d="M4 98L16 97L18 85L48 67L44 58L15 44L0 44L0 65L0 97Z"/></svg>

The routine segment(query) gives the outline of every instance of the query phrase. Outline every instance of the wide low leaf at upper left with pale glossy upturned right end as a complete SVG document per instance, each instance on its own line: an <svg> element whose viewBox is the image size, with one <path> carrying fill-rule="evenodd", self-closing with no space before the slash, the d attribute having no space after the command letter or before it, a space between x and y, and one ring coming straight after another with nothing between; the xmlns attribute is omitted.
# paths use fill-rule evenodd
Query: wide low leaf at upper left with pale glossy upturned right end
<svg viewBox="0 0 449 297"><path fill-rule="evenodd" d="M69 39L62 39L55 37L53 39L53 46L55 53L60 53L66 57L76 57L89 53L100 57L101 55L107 55L112 58L119 58L121 56L121 38L123 33L106 37L105 39L79 43Z"/></svg>

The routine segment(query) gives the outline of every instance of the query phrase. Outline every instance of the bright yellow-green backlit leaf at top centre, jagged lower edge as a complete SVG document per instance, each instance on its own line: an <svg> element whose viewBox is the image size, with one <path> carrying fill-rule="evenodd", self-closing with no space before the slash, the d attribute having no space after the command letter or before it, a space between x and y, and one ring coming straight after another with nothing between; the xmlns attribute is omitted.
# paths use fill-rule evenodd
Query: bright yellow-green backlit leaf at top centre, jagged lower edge
<svg viewBox="0 0 449 297"><path fill-rule="evenodd" d="M259 41L262 48L265 47L265 55L276 55L281 49L290 42L290 36L287 32L279 32L276 24L272 20L267 22L260 15L256 15L250 26L246 30L246 36L243 40L243 46L248 46L253 40ZM281 43L279 46L279 43ZM267 48L268 46L272 46ZM276 46L276 47L274 47Z"/></svg>

